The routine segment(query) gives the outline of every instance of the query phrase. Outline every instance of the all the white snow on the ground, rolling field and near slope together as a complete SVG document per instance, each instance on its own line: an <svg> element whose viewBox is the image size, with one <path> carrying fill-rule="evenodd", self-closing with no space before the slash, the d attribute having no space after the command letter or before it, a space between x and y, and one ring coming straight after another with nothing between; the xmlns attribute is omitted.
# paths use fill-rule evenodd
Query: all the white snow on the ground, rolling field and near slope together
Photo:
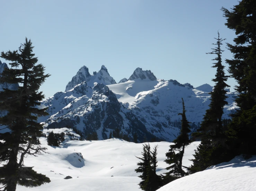
<svg viewBox="0 0 256 191"><path fill-rule="evenodd" d="M78 134L67 128L44 129L56 132L71 132L75 137ZM126 142L121 139L108 139L102 141L70 141L68 136L61 147L47 145L46 138L41 137L41 146L46 147L48 154L38 157L28 156L24 164L34 166L34 170L45 174L51 183L41 187L26 188L17 186L17 191L27 190L54 190L54 191L139 191L138 173L135 156L141 157L142 143ZM193 142L185 149L183 165L191 165L192 154L200 142ZM167 164L165 153L169 149L169 142L150 143L151 147L158 144L157 173L166 172ZM256 190L255 173L256 157L243 161L237 157L228 163L198 172L187 177L173 181L159 191L208 191L208 190ZM72 179L64 178L71 176ZM113 177L112 177L113 176Z"/></svg>

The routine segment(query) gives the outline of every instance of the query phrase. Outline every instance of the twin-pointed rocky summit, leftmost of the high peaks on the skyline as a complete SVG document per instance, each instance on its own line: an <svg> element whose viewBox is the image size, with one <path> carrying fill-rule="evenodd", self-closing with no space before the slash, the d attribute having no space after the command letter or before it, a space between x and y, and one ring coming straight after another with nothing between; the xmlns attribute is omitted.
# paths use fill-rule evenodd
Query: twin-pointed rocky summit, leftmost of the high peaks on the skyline
<svg viewBox="0 0 256 191"><path fill-rule="evenodd" d="M89 70L86 66L83 66L79 69L76 76L67 84L65 92L73 89L78 84L85 82L90 87L94 87L95 83L103 83L105 85L116 84L116 81L109 76L107 68L102 65L99 72L94 72L93 75L89 73Z"/></svg>

